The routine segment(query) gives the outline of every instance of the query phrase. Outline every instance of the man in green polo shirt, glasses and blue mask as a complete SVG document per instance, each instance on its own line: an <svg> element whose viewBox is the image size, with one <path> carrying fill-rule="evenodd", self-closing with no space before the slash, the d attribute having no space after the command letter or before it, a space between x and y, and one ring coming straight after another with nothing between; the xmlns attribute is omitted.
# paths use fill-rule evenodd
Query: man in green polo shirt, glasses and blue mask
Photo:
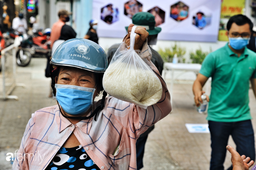
<svg viewBox="0 0 256 170"><path fill-rule="evenodd" d="M195 103L202 103L202 87L209 77L211 96L208 123L211 133L210 170L224 170L229 135L237 152L255 160L254 132L250 119L249 80L256 96L256 53L246 48L253 24L245 15L235 15L227 23L229 42L210 53L193 85ZM232 166L228 168L232 170Z"/></svg>

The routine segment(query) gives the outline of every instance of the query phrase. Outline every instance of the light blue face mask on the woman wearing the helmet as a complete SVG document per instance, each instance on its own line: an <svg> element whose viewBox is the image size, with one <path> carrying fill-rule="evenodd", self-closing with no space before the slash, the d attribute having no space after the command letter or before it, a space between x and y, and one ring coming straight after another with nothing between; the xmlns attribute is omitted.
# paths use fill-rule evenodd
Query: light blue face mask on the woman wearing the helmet
<svg viewBox="0 0 256 170"><path fill-rule="evenodd" d="M93 105L95 88L55 84L56 99L70 115L82 115Z"/></svg>

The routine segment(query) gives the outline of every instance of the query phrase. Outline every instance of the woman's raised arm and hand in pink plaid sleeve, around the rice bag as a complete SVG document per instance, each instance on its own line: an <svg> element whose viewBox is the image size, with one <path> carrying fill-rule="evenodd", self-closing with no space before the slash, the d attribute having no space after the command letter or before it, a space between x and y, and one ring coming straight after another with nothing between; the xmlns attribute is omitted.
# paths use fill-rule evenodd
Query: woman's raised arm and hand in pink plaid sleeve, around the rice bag
<svg viewBox="0 0 256 170"><path fill-rule="evenodd" d="M134 26L134 24L130 24L128 31L132 26ZM141 49L140 57L146 58L149 61L148 63L150 68L161 82L162 96L156 104L148 106L147 109L140 108L135 104L124 102L115 98L109 98L109 112L115 115L116 119L118 119L118 121L120 121L125 128L129 129L129 131L135 135L132 135L133 137L139 137L139 135L145 132L148 127L152 126L160 119L163 119L163 117L167 116L172 110L171 97L167 86L156 66L154 66L154 64L150 61L152 53L147 44L148 32L143 27L138 28L139 29L137 30L135 29L135 33L137 33L137 35L135 37L136 46L134 46L134 49ZM127 46L130 46L130 34L128 34L123 41L127 44Z"/></svg>

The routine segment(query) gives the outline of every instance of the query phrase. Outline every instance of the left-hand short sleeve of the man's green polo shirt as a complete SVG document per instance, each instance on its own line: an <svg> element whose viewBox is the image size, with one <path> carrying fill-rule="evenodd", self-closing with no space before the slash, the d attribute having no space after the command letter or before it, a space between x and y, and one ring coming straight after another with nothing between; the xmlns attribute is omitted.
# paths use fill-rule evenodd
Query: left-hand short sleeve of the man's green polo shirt
<svg viewBox="0 0 256 170"><path fill-rule="evenodd" d="M202 67L199 71L200 74L211 77L215 70L215 57L211 53L204 58Z"/></svg>

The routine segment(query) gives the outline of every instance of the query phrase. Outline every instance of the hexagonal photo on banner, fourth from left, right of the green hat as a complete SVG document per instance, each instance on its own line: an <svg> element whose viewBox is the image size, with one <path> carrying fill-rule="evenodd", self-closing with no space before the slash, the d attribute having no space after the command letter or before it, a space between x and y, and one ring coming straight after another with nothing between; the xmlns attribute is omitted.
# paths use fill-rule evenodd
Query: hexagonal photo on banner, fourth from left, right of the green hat
<svg viewBox="0 0 256 170"><path fill-rule="evenodd" d="M171 5L170 17L176 21L185 20L189 16L189 6L183 2L177 2Z"/></svg>

